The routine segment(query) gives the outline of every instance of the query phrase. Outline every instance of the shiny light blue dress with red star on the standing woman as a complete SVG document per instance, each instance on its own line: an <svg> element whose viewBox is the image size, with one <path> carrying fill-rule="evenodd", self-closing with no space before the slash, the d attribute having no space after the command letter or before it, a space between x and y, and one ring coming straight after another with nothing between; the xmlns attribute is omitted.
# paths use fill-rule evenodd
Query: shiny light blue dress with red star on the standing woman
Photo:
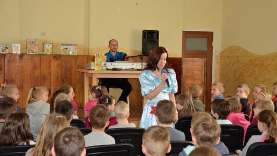
<svg viewBox="0 0 277 156"><path fill-rule="evenodd" d="M157 77L151 70L144 70L140 74L139 79L141 84L142 96L146 96L162 82L162 80ZM167 84L165 84L162 91L153 100L147 99L147 103L143 108L140 127L147 129L150 126L157 125L155 115L153 114L154 109L157 106L157 102L164 99L169 100L169 93L176 93L178 90L176 74L173 69L169 69L168 81L169 87L167 86Z"/></svg>

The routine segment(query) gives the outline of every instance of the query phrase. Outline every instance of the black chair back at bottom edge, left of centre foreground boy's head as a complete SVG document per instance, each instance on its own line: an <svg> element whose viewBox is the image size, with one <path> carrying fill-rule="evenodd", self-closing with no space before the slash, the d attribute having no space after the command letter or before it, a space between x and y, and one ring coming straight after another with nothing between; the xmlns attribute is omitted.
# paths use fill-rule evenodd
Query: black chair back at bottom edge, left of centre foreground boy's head
<svg viewBox="0 0 277 156"><path fill-rule="evenodd" d="M133 156L132 144L114 144L86 147L87 156Z"/></svg>

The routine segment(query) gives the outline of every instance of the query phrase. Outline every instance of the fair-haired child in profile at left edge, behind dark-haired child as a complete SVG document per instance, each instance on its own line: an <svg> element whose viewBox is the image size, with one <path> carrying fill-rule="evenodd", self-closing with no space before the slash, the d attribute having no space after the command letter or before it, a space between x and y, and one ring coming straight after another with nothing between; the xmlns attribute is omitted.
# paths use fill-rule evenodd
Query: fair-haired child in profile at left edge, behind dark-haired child
<svg viewBox="0 0 277 156"><path fill-rule="evenodd" d="M12 97L17 103L19 100L18 89L15 85L7 85L6 83L2 84L0 87L0 95ZM21 112L21 109L16 105L16 112Z"/></svg>

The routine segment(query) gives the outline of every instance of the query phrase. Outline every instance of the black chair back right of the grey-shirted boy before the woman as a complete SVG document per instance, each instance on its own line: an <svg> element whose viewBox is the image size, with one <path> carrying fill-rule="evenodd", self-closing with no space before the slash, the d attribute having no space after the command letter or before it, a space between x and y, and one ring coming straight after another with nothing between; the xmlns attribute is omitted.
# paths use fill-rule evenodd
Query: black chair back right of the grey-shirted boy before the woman
<svg viewBox="0 0 277 156"><path fill-rule="evenodd" d="M191 140L191 133L190 133L190 123L191 123L192 115L184 116L180 118L177 123L175 124L175 129L180 130L185 133L186 141Z"/></svg>

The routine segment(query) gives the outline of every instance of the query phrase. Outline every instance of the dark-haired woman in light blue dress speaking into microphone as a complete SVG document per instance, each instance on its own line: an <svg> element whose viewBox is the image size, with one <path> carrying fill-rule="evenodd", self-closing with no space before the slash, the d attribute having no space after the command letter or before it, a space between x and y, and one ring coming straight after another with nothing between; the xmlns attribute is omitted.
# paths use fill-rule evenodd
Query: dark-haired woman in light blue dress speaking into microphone
<svg viewBox="0 0 277 156"><path fill-rule="evenodd" d="M148 57L148 62L143 72L140 74L140 84L142 96L147 97L147 103L144 106L140 127L147 129L152 125L157 125L155 118L155 108L160 100L171 100L175 103L174 93L178 86L176 74L167 63L168 52L164 47L153 49ZM166 70L161 72L162 69ZM166 84L168 80L169 87ZM177 121L178 115L176 114Z"/></svg>

